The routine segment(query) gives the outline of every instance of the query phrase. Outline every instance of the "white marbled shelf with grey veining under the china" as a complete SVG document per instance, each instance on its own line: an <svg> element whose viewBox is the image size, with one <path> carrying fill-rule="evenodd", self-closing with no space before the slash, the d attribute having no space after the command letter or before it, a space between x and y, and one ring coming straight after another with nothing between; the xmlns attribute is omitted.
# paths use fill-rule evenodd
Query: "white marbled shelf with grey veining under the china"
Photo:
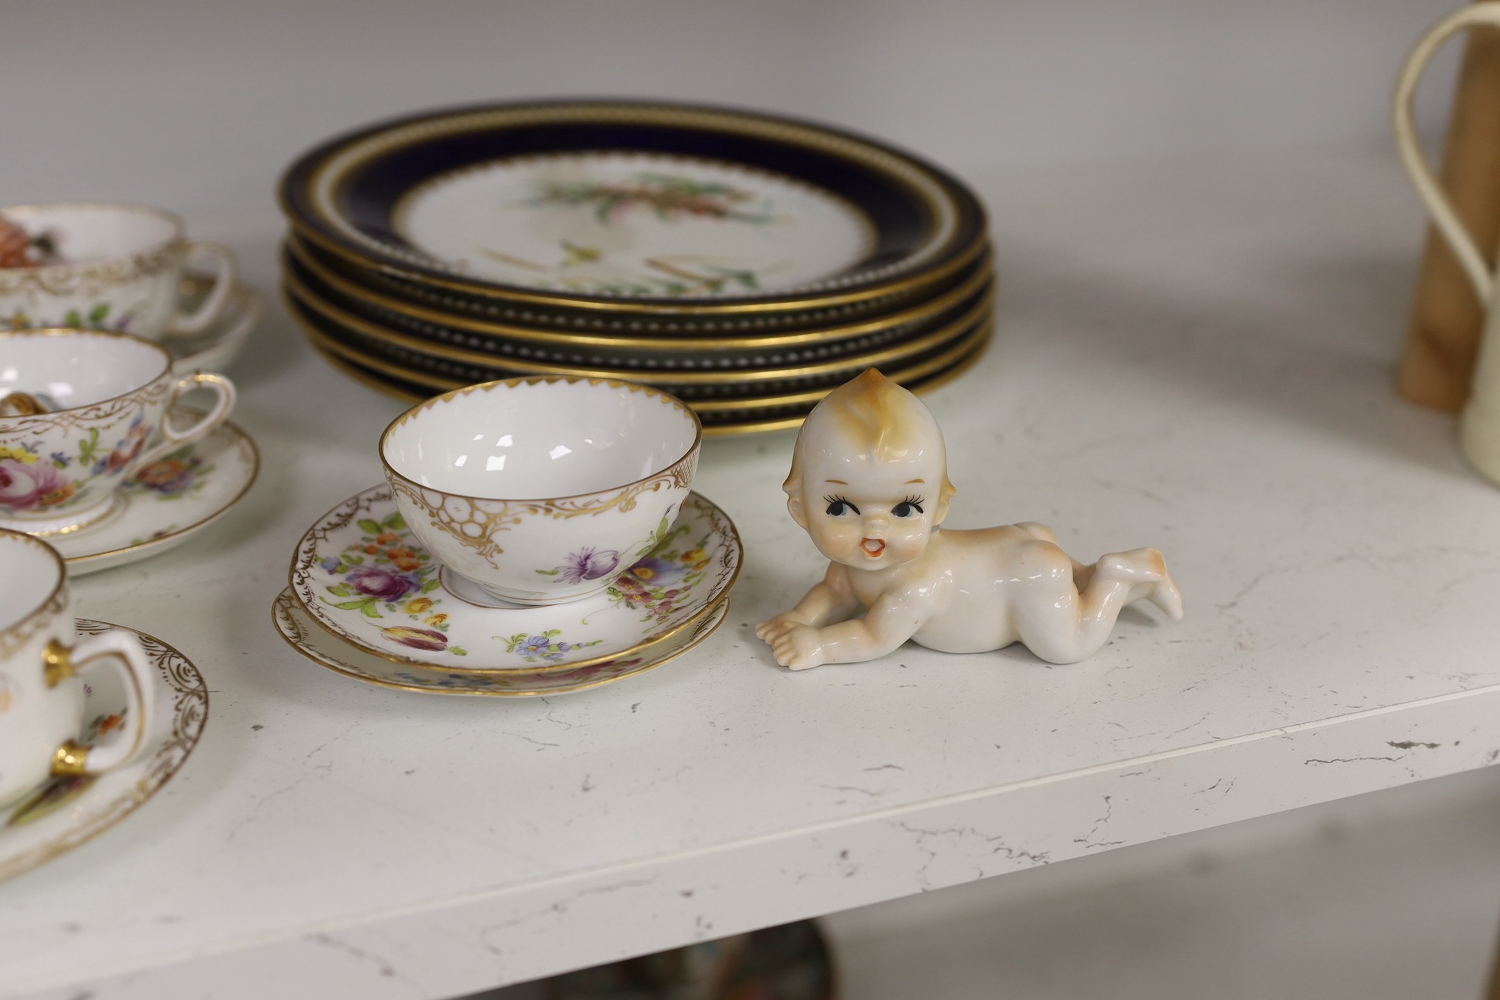
<svg viewBox="0 0 1500 1000"><path fill-rule="evenodd" d="M360 685L270 603L400 406L276 310L236 369L261 483L76 586L198 664L202 742L0 885L0 997L447 997L1496 762L1500 490L1390 391L1422 225L1394 154L969 177L1000 336L930 399L950 525L1160 546L1185 622L1131 610L1071 667L783 672L748 624L820 571L783 433L705 448L747 564L694 654L549 700ZM276 217L190 222L274 286Z"/></svg>

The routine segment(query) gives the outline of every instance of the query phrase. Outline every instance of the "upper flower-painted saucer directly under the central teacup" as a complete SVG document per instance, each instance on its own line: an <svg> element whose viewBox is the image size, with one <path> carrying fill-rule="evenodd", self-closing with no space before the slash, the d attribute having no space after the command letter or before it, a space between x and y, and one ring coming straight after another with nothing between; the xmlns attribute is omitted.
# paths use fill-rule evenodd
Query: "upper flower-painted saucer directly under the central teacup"
<svg viewBox="0 0 1500 1000"><path fill-rule="evenodd" d="M538 573L603 576L602 555L574 553ZM740 534L724 511L688 493L658 541L596 597L546 607L490 598L441 571L396 510L390 486L318 519L291 564L291 592L330 637L404 667L526 675L654 657L720 603L740 574Z"/></svg>

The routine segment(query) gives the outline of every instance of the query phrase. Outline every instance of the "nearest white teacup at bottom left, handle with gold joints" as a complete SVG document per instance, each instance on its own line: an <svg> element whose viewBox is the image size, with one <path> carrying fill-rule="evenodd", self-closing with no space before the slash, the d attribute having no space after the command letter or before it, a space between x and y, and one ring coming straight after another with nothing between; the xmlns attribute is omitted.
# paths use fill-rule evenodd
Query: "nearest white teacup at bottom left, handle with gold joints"
<svg viewBox="0 0 1500 1000"><path fill-rule="evenodd" d="M63 558L45 541L0 529L0 805L50 777L102 774L129 763L152 729L158 684L146 651L124 630L80 640ZM90 723L84 745L84 682L78 670L108 657L128 684L124 718Z"/></svg>

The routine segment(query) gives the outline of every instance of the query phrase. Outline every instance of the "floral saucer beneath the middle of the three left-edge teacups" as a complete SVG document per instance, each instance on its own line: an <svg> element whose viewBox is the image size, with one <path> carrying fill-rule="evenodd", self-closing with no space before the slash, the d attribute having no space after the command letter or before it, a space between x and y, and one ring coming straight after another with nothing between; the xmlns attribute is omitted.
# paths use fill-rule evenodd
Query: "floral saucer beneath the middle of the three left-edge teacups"
<svg viewBox="0 0 1500 1000"><path fill-rule="evenodd" d="M261 459L249 435L231 423L135 472L124 502L100 523L46 540L78 577L146 559L180 546L244 496Z"/></svg>

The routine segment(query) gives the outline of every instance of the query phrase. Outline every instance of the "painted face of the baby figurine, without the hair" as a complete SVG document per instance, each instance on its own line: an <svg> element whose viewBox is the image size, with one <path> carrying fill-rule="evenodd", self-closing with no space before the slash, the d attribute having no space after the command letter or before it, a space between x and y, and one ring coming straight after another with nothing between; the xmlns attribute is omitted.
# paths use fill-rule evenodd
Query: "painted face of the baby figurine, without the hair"
<svg viewBox="0 0 1500 1000"><path fill-rule="evenodd" d="M930 450L894 462L856 451L808 457L801 507L819 552L856 570L900 565L922 553L946 508L939 499L942 466Z"/></svg>

